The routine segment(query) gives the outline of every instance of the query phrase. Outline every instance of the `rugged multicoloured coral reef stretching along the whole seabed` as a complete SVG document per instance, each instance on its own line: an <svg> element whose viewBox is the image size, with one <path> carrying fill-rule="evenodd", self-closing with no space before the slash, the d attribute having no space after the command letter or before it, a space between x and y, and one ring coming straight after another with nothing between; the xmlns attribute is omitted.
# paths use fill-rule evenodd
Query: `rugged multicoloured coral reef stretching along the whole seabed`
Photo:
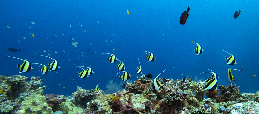
<svg viewBox="0 0 259 114"><path fill-rule="evenodd" d="M77 87L69 97L43 95L45 86L40 87L43 80L39 77L30 81L16 75L0 78L1 114L52 114L58 110L64 114L255 114L259 110L259 92L239 93L236 85L220 85L219 94L218 90L203 89L204 82L191 77L175 81L162 77L158 79L162 89L156 91L152 88L153 80L142 75L135 84L126 83L121 92L104 94L103 90ZM116 84L109 82L107 86Z"/></svg>

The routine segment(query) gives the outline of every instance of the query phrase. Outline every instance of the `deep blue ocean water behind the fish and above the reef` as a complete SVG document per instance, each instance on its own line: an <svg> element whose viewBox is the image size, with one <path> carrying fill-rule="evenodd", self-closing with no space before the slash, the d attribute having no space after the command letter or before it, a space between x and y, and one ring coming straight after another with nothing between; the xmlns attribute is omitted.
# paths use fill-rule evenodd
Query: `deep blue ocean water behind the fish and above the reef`
<svg viewBox="0 0 259 114"><path fill-rule="evenodd" d="M40 77L44 79L42 86L47 86L44 94L70 96L77 86L92 89L98 82L98 87L106 90L108 81L121 82L119 77L115 78L119 72L116 65L120 62L109 64L110 55L101 54L111 53L124 62L132 81L140 76L136 73L138 58L142 74L153 74L155 78L166 69L159 78L175 80L187 75L205 81L211 74L200 73L210 69L220 77L218 85L231 84L227 77L229 68L244 67L242 72L232 71L234 83L240 86L240 92L256 92L258 77L253 75L259 75L257 4L255 0L1 0L0 75ZM181 25L179 18L188 6L189 17ZM234 19L238 10L240 16ZM78 42L77 47L69 43L72 38ZM197 44L191 44L192 41L203 47L201 55L196 56L193 48ZM10 52L11 47L21 51ZM221 49L232 54L237 64L225 64L225 56L230 55ZM156 60L147 62L148 54L142 51L152 52ZM57 60L60 69L40 75L42 66L33 64L33 70L18 73L16 64L23 61L5 55L45 65L53 60L39 55L49 56ZM91 67L95 73L85 79L78 78L77 73L82 69L75 66Z"/></svg>

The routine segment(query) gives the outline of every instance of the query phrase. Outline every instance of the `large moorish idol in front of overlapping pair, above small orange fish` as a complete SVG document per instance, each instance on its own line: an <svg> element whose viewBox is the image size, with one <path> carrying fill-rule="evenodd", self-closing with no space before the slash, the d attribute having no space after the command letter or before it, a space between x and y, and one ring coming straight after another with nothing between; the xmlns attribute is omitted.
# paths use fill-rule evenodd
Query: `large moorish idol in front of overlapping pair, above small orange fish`
<svg viewBox="0 0 259 114"><path fill-rule="evenodd" d="M203 72L205 73L205 72ZM208 91L214 91L214 90L218 90L218 75L214 72L208 72L208 73L212 73L211 79L208 81L208 83L206 84L206 86L203 89L207 89Z"/></svg>

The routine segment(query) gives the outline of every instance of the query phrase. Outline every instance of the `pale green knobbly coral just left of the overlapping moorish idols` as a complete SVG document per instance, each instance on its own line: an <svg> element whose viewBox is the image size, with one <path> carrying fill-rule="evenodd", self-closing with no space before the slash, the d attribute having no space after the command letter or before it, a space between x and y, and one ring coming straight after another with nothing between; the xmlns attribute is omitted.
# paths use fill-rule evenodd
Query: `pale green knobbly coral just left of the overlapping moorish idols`
<svg viewBox="0 0 259 114"><path fill-rule="evenodd" d="M197 100L202 102L204 98L204 94L207 91L206 89L203 89L205 85L202 82L192 82L190 86L195 89Z"/></svg>

